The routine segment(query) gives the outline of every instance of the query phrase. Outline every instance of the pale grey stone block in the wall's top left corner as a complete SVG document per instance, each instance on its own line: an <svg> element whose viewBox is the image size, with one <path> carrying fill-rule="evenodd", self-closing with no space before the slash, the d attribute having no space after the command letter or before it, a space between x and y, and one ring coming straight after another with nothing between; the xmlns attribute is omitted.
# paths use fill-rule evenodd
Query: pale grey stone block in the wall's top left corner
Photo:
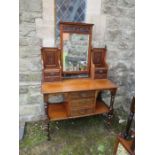
<svg viewBox="0 0 155 155"><path fill-rule="evenodd" d="M42 0L20 0L19 11L42 12Z"/></svg>

